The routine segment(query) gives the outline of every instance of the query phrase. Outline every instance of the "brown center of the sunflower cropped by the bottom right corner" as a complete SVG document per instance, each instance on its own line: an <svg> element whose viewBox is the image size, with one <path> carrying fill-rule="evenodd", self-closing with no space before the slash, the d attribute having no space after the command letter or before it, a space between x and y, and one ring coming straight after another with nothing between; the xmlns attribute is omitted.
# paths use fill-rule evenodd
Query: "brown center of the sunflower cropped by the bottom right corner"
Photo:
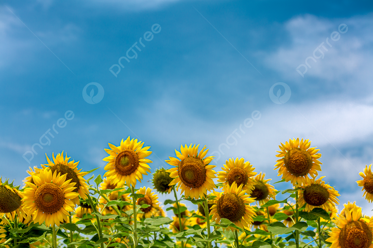
<svg viewBox="0 0 373 248"><path fill-rule="evenodd" d="M339 233L342 248L368 248L372 244L372 231L361 221L348 222Z"/></svg>

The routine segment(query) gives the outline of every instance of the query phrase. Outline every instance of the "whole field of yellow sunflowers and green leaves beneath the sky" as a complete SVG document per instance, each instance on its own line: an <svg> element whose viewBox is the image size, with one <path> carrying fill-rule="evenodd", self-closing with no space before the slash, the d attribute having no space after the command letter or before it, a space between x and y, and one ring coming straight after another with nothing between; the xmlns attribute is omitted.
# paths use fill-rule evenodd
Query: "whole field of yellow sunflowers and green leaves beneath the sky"
<svg viewBox="0 0 373 248"><path fill-rule="evenodd" d="M29 168L23 187L0 180L0 247L373 248L373 217L354 199L339 212L338 191L318 177L319 149L308 139L280 144L273 184L288 184L283 191L244 158L216 172L209 149L195 144L175 149L171 168L153 171L153 189L139 186L152 161L137 139L109 143L103 178L63 151L52 154ZM372 202L371 165L360 175ZM158 194L170 195L164 206Z"/></svg>

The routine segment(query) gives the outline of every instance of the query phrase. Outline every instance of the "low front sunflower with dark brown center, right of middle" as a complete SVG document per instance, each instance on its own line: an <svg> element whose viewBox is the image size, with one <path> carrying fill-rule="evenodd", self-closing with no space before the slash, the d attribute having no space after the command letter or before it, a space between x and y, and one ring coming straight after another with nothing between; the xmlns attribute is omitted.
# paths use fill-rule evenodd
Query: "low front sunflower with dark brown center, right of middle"
<svg viewBox="0 0 373 248"><path fill-rule="evenodd" d="M240 228L248 227L253 222L253 216L256 216L255 210L249 204L255 201L250 198L250 195L245 194L246 190L242 190L243 184L237 187L234 181L231 186L223 186L223 192L214 191L212 194L216 196L214 199L215 205L211 207L212 220L216 223L220 219L229 219ZM234 231L234 228L229 227Z"/></svg>

